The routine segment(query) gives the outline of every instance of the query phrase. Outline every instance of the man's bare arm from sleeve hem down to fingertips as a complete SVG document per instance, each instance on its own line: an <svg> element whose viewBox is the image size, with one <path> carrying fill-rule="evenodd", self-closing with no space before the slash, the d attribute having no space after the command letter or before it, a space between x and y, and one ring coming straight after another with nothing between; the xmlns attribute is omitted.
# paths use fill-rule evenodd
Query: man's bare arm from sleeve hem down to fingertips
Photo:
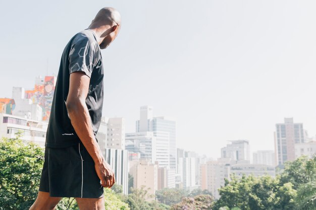
<svg viewBox="0 0 316 210"><path fill-rule="evenodd" d="M90 78L83 72L70 74L69 92L66 101L67 111L78 137L94 161L95 171L103 187L111 188L115 183L114 172L104 160L97 144L91 118L85 100L88 95ZM106 179L106 176L110 176Z"/></svg>

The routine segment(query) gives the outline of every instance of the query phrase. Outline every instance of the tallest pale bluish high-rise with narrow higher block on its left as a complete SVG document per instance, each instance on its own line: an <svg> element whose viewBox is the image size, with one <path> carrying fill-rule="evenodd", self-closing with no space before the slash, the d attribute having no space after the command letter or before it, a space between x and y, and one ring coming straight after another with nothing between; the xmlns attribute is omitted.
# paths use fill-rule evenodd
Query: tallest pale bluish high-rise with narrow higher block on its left
<svg viewBox="0 0 316 210"><path fill-rule="evenodd" d="M176 121L166 117L153 117L151 106L140 107L136 132L151 131L156 136L156 161L160 166L177 167Z"/></svg>

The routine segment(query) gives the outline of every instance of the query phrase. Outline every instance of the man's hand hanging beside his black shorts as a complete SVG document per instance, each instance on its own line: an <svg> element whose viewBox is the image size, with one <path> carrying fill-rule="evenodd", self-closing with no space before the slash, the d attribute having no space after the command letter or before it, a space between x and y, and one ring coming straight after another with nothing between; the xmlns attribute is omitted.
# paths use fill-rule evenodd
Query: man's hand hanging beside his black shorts
<svg viewBox="0 0 316 210"><path fill-rule="evenodd" d="M111 188L115 183L115 175L112 167L102 159L102 163L95 163L95 171L101 180L102 187Z"/></svg>

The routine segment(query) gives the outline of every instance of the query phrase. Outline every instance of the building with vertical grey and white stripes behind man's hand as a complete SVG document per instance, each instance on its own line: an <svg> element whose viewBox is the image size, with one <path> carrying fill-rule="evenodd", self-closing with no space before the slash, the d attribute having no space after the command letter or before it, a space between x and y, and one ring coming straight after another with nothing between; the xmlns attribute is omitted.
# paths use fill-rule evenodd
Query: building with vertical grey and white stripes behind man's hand
<svg viewBox="0 0 316 210"><path fill-rule="evenodd" d="M106 149L104 159L114 170L115 182L128 194L128 152L121 149Z"/></svg>

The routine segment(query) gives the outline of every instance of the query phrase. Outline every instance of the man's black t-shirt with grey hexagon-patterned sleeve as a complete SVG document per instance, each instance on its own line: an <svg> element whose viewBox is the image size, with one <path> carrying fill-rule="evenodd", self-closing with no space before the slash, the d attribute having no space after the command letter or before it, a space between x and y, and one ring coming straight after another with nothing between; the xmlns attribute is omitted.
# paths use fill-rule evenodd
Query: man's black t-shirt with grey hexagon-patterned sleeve
<svg viewBox="0 0 316 210"><path fill-rule="evenodd" d="M90 78L86 105L94 135L99 128L103 105L103 66L100 47L89 29L76 34L66 45L51 105L46 134L46 147L62 148L79 143L66 108L71 73L84 72Z"/></svg>

